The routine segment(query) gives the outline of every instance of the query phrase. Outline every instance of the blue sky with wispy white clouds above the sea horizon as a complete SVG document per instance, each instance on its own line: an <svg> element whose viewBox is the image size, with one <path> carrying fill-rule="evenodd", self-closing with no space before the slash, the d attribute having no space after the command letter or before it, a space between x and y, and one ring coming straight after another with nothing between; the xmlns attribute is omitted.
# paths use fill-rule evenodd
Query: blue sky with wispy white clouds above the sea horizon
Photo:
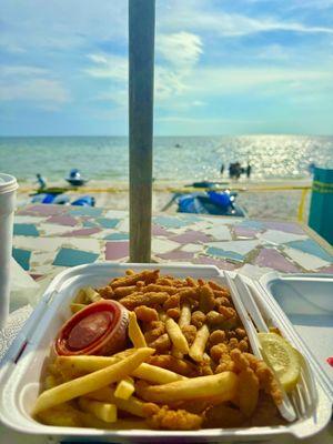
<svg viewBox="0 0 333 444"><path fill-rule="evenodd" d="M1 135L128 133L128 2L1 0ZM157 0L157 135L333 133L333 0Z"/></svg>

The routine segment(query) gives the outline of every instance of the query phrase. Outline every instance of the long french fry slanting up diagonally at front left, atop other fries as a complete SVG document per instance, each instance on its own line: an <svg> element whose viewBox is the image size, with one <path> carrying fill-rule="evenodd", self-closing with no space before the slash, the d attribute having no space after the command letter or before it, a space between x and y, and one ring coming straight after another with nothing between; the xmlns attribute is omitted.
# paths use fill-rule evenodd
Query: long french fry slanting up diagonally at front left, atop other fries
<svg viewBox="0 0 333 444"><path fill-rule="evenodd" d="M47 390L38 397L33 414L36 415L43 410L102 389L108 384L128 376L152 353L154 353L153 349L139 349L123 361Z"/></svg>

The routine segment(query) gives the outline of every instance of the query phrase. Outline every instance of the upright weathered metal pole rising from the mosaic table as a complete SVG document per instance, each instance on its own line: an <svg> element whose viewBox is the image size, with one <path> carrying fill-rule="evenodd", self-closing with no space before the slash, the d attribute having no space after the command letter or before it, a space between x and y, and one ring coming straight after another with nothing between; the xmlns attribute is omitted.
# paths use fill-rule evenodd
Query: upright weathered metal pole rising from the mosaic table
<svg viewBox="0 0 333 444"><path fill-rule="evenodd" d="M130 260L151 260L155 1L129 0Z"/></svg>

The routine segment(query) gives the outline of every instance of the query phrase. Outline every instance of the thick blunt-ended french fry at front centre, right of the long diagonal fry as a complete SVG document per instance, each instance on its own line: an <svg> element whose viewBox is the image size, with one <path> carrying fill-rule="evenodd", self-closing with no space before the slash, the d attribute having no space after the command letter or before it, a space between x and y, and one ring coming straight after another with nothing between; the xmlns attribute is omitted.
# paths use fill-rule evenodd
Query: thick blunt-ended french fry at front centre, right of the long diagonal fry
<svg viewBox="0 0 333 444"><path fill-rule="evenodd" d="M222 372L210 376L192 377L163 385L150 385L139 391L145 401L173 403L174 401L209 400L231 401L238 390L239 377L233 372Z"/></svg>

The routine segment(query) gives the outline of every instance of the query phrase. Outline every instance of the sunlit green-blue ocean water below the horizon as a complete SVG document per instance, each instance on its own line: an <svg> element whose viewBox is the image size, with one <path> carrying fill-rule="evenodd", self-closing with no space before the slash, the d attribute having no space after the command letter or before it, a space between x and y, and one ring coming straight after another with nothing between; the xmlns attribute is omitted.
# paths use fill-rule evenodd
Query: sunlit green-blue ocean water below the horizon
<svg viewBox="0 0 333 444"><path fill-rule="evenodd" d="M153 175L157 180L221 179L221 164L228 169L234 161L244 167L250 162L255 180L306 178L313 162L333 168L333 137L154 139ZM83 175L93 180L128 180L128 138L0 138L0 171L13 174L20 181L33 181L36 173L50 181L62 180L72 168L80 169Z"/></svg>

